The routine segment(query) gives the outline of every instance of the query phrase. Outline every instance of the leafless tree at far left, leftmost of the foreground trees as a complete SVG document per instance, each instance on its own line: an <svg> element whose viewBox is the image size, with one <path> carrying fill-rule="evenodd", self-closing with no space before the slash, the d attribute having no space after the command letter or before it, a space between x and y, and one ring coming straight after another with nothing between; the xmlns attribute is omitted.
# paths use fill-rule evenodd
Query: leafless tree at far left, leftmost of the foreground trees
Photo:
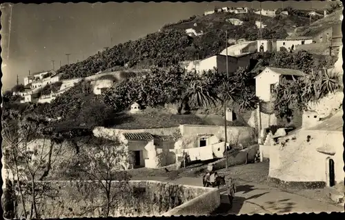
<svg viewBox="0 0 345 220"><path fill-rule="evenodd" d="M37 209L37 181L48 176L52 164L61 153L62 142L57 137L50 137L44 132L48 121L37 115L23 116L18 111L10 110L3 120L3 147L6 165L14 174L17 190L23 206L23 217L39 218ZM37 141L38 143L34 143ZM41 188L44 189L44 188ZM26 198L31 197L31 210L26 210Z"/></svg>

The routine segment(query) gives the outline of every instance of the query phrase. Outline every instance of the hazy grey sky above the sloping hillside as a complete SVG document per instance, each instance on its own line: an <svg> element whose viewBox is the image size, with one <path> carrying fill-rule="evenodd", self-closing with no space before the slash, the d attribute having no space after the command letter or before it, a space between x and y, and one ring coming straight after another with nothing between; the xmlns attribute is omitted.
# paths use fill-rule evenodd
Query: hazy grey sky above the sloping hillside
<svg viewBox="0 0 345 220"><path fill-rule="evenodd" d="M284 7L325 8L322 1L284 1ZM67 63L81 61L104 47L145 37L166 23L174 23L194 14L203 14L215 6L259 8L257 1L202 3L42 3L1 5L2 90L23 83L23 77L43 70L55 70ZM262 8L281 8L280 1L262 2ZM8 42L8 39L9 42ZM8 49L8 50L7 50Z"/></svg>

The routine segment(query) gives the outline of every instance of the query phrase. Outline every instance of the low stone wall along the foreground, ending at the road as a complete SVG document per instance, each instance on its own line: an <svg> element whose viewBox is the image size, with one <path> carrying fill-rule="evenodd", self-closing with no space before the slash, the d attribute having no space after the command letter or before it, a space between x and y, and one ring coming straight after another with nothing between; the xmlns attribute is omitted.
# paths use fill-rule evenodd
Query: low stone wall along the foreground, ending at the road
<svg viewBox="0 0 345 220"><path fill-rule="evenodd" d="M99 182L41 181L39 185L46 188L46 195L39 201L43 219L102 217L107 210L106 193ZM112 181L111 188L111 217L209 214L220 204L219 191L214 188L160 181ZM29 202L26 207L30 210Z"/></svg>

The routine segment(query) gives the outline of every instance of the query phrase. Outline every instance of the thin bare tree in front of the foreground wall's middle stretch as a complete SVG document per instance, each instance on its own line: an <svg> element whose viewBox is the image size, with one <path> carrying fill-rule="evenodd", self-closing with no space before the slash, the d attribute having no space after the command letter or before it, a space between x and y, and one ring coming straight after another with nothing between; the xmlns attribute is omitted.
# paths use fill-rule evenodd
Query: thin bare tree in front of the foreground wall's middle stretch
<svg viewBox="0 0 345 220"><path fill-rule="evenodd" d="M78 169L86 174L88 180L98 183L101 190L99 196L103 200L100 204L94 203L79 215L93 213L100 208L101 215L109 217L111 210L115 210L119 201L124 198L124 192L128 192L130 176L124 171L128 168L128 151L119 141L93 137L89 143L93 147L78 156Z"/></svg>

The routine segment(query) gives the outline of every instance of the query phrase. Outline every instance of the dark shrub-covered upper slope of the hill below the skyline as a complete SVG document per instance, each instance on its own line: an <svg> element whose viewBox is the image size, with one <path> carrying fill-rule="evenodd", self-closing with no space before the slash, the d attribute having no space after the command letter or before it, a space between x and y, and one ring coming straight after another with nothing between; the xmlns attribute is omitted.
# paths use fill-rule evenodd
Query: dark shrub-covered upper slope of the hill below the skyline
<svg viewBox="0 0 345 220"><path fill-rule="evenodd" d="M258 39L259 30L255 26L255 21L259 21L259 17L259 14L255 13L215 13L193 16L177 23L168 24L158 32L148 34L136 41L119 43L108 50L88 57L88 59L62 66L57 72L63 72L62 79L70 79L88 77L109 68L126 70L136 66L141 68L148 68L152 65L164 67L177 64L179 61L195 60L197 57L204 59L221 52L226 47L224 40L226 30L228 30L228 39L249 41ZM240 19L244 23L242 26L234 26L226 21L229 18ZM275 18L262 16L262 21L267 25L262 30L264 39L284 39L288 36L287 32L309 20L293 14ZM189 37L185 32L187 28L203 30L204 34Z"/></svg>

